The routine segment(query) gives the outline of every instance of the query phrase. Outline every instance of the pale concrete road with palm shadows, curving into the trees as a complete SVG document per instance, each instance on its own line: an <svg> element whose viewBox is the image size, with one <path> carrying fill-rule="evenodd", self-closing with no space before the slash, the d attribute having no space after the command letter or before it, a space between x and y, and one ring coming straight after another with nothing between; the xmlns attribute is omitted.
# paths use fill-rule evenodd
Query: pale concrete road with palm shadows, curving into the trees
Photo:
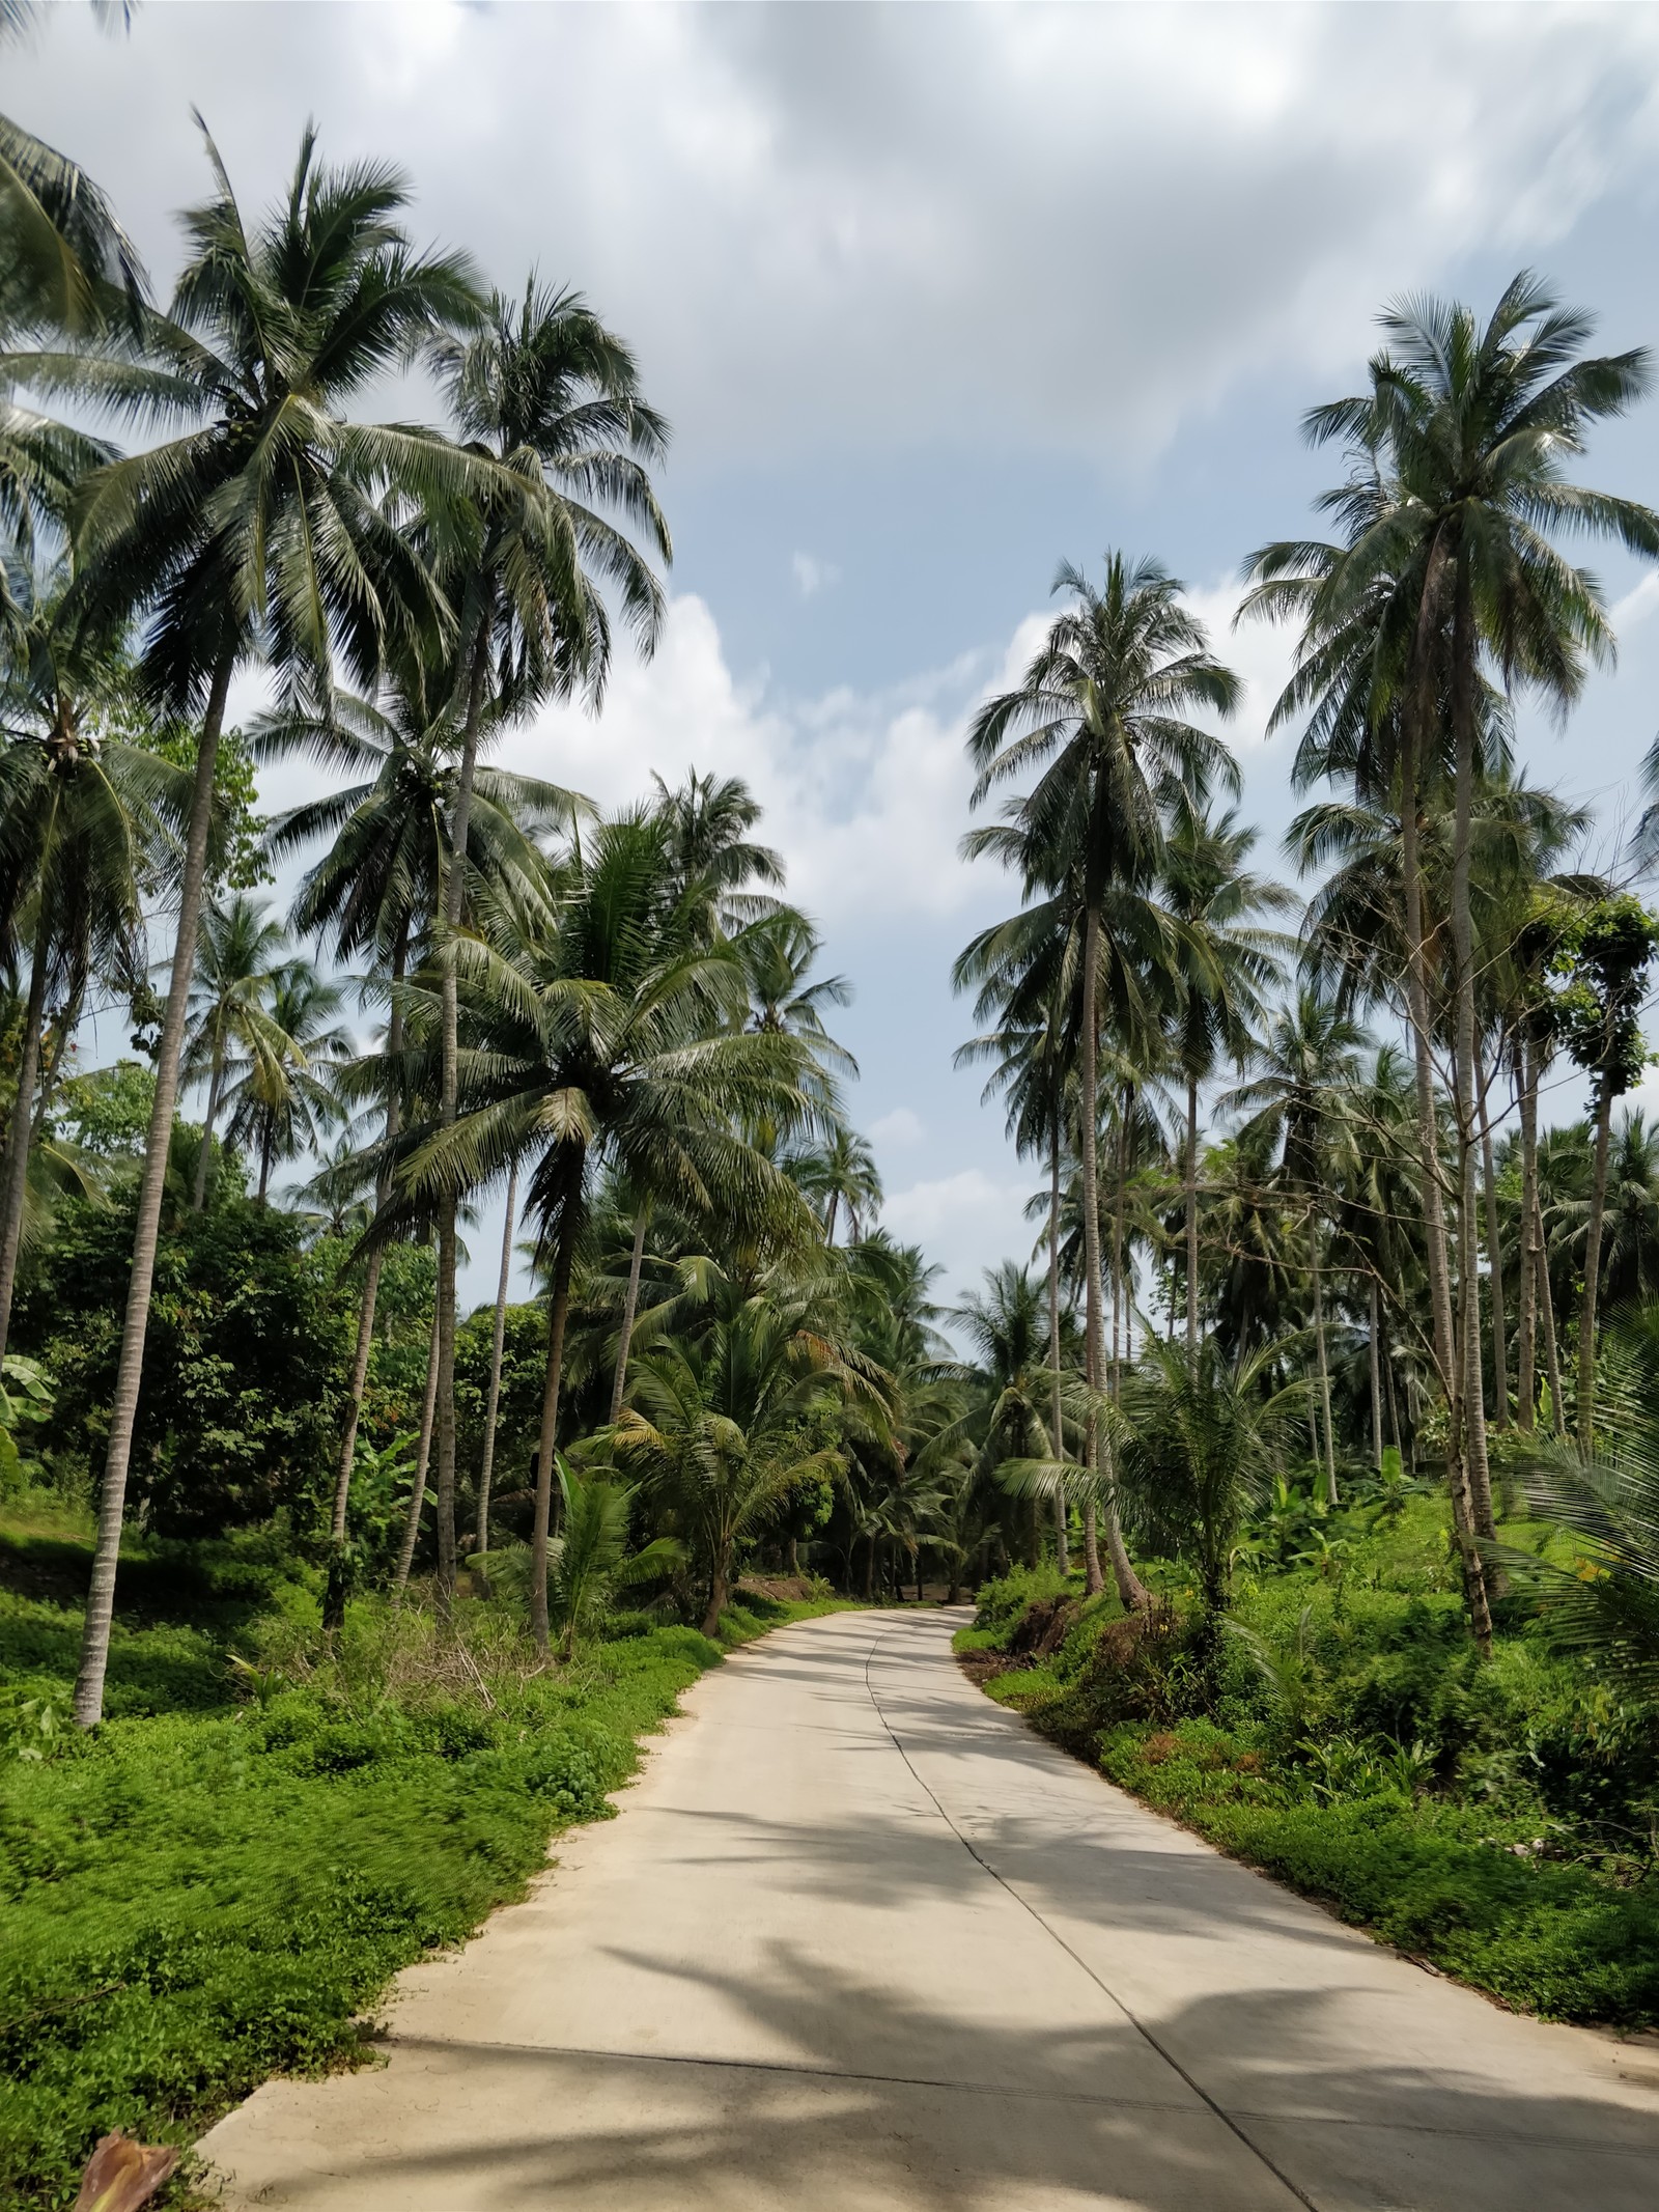
<svg viewBox="0 0 1659 2212"><path fill-rule="evenodd" d="M958 1617L960 1619L960 1617ZM206 2137L303 2212L1652 2212L1659 2051L1515 2020L1219 1858L958 1672L781 1630L387 2064Z"/></svg>

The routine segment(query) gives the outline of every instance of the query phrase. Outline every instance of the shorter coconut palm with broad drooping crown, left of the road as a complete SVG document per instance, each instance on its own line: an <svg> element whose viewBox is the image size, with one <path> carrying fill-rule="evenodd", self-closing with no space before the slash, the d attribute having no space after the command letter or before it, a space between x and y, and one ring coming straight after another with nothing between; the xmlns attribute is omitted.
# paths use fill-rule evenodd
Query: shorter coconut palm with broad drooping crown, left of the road
<svg viewBox="0 0 1659 2212"><path fill-rule="evenodd" d="M551 1256L549 1358L535 1486L531 1628L546 1646L546 1542L571 1270L602 1164L692 1217L790 1223L801 1199L739 1130L810 1113L807 1055L743 1031L732 947L688 942L661 823L628 814L582 841L551 891L480 889L476 940L456 945L478 998L482 1051L467 1110L409 1161L414 1190L465 1190L526 1168L526 1206ZM469 1015L471 1020L471 1015Z"/></svg>

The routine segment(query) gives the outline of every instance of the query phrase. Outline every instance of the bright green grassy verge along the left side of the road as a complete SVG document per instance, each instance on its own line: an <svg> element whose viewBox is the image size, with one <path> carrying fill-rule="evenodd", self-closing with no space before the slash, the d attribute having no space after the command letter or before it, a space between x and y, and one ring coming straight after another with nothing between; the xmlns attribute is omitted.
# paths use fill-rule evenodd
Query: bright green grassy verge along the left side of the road
<svg viewBox="0 0 1659 2212"><path fill-rule="evenodd" d="M188 2143L272 2073L352 2064L387 1980L604 1818L681 1690L836 1610L743 1593L719 1641L624 1619L535 1668L487 1601L453 1637L361 1604L323 1652L272 1540L137 1548L86 1741L80 1584L75 1537L0 1531L0 2203L31 2212L108 2128Z"/></svg>

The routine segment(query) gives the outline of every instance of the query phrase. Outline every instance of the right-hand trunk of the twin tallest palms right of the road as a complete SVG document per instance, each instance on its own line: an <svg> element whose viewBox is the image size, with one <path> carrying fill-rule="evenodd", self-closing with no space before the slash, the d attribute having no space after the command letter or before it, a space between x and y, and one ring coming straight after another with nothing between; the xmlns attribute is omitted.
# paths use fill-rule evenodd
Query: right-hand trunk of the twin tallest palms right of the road
<svg viewBox="0 0 1659 2212"><path fill-rule="evenodd" d="M1469 905L1469 867L1475 812L1475 617L1469 562L1458 557L1453 586L1451 719L1458 757L1451 836L1451 962L1455 982L1453 1088L1458 1104L1458 1214L1464 1469L1469 1517L1482 1540L1495 1535L1491 1469L1486 1464L1486 1387L1480 1371L1480 1190L1475 1172L1475 936Z"/></svg>

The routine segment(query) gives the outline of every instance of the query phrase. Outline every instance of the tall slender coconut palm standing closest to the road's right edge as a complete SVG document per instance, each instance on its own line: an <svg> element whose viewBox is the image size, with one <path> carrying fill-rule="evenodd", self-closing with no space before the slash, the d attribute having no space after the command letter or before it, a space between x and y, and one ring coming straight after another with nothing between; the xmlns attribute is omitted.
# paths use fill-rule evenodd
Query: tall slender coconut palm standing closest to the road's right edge
<svg viewBox="0 0 1659 2212"><path fill-rule="evenodd" d="M991 701L969 730L978 770L973 805L1013 779L1037 781L1020 807L1033 849L1046 852L1048 880L1075 874L1084 922L1079 1113L1099 1126L1099 973L1108 894L1157 869L1164 807L1181 787L1203 794L1237 787L1237 765L1221 739L1186 717L1230 714L1237 677L1210 653L1203 626L1181 606L1181 586L1157 562L1130 566L1106 557L1104 588L1064 564L1055 591L1071 608L1055 617L1024 681ZM1106 1343L1099 1305L1099 1192L1095 1146L1082 1146L1088 1380L1102 1387ZM1124 1604L1146 1590L1124 1551L1106 1491L1106 1537Z"/></svg>

